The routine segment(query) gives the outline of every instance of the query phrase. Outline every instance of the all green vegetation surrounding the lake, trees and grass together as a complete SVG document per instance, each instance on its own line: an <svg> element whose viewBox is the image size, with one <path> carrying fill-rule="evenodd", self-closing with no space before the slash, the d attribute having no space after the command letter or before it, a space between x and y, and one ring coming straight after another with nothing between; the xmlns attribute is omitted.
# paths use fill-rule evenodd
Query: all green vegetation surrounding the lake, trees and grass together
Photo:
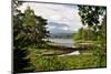
<svg viewBox="0 0 111 74"><path fill-rule="evenodd" d="M18 0L13 0L13 3L14 73L107 66L105 7L78 6L83 27L71 35L75 47L65 47L51 45L50 41L43 40L50 36L46 28L47 19L36 15L30 7L22 13L18 9L22 3ZM100 15L103 17L102 22L99 20ZM79 51L80 54L59 56L73 51Z"/></svg>

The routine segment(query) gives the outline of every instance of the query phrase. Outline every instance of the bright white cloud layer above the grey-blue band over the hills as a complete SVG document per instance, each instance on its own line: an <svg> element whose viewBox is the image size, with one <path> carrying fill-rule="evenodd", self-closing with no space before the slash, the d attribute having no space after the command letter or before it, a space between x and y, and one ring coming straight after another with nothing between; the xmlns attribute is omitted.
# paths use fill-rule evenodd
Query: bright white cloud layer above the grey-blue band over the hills
<svg viewBox="0 0 111 74"><path fill-rule="evenodd" d="M72 31L82 27L75 6L27 2L20 7L22 12L28 6L34 10L37 15L48 19L48 22L64 23Z"/></svg>

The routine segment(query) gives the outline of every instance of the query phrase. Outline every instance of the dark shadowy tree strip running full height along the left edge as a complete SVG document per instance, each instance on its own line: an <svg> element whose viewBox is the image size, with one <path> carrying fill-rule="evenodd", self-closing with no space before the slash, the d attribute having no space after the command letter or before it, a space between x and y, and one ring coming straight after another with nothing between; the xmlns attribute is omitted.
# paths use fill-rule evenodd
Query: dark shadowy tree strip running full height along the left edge
<svg viewBox="0 0 111 74"><path fill-rule="evenodd" d="M23 14L17 9L20 4L18 0L13 0L13 73L32 72L34 70L30 59L26 59L28 51L23 49Z"/></svg>

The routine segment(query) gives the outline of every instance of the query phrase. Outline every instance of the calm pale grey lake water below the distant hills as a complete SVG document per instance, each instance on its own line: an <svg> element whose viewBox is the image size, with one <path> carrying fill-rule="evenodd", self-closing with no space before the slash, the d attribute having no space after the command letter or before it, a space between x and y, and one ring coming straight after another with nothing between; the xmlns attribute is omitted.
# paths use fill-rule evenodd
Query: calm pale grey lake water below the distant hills
<svg viewBox="0 0 111 74"><path fill-rule="evenodd" d="M74 43L72 39L49 39L49 41L53 42L52 44L54 45L62 45L68 47L72 47Z"/></svg>

